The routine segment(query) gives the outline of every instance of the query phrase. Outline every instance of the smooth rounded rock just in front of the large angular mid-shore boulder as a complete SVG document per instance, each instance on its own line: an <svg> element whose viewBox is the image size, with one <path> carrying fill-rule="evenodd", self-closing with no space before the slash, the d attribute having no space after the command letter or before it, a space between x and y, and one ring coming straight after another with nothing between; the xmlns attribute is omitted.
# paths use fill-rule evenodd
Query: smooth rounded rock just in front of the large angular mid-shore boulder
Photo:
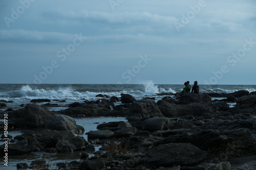
<svg viewBox="0 0 256 170"><path fill-rule="evenodd" d="M171 122L169 118L166 117L153 117L146 119L142 122L142 131L158 131L158 130L168 130L170 128Z"/></svg>

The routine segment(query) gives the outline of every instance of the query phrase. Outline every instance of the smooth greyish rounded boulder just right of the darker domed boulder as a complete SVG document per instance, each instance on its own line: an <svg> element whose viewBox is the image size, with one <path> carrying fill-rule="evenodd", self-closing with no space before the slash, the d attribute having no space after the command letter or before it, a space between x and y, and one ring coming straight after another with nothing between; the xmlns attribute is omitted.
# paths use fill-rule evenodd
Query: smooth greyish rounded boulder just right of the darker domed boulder
<svg viewBox="0 0 256 170"><path fill-rule="evenodd" d="M84 132L83 127L77 126L74 118L55 114L53 115L46 124L46 129L57 130L57 131L66 131L73 134Z"/></svg>

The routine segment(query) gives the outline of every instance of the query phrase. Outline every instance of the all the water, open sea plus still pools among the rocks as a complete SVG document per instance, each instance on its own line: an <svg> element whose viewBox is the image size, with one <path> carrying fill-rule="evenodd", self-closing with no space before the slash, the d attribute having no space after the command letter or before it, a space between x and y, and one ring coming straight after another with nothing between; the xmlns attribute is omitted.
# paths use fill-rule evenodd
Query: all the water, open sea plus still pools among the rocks
<svg viewBox="0 0 256 170"><path fill-rule="evenodd" d="M193 84L191 84L193 86ZM218 92L231 93L239 90L247 90L249 92L256 91L256 85L200 85L200 92ZM51 111L67 109L68 105L74 102L96 101L100 99L96 97L98 94L106 94L108 96L121 96L121 93L131 94L136 100L141 100L146 97L155 98L155 101L161 100L169 93L180 92L183 89L183 84L154 84L153 81L147 81L143 84L0 84L0 102L6 103L7 107L0 108L0 114L5 113L7 109L13 110L23 108L22 104L29 104L33 99L49 99L54 107L48 107ZM60 102L65 101L65 102ZM46 103L40 103L44 105ZM115 103L119 105L121 102ZM96 127L101 123L124 121L125 117L90 117L90 118L75 118L77 125L83 126L86 132L97 130ZM4 122L0 119L0 123ZM11 128L11 127L9 127ZM20 131L9 130L13 137L22 134ZM85 139L87 135L80 134ZM0 134L2 136L2 134ZM100 145L95 145L98 150ZM4 165L0 159L0 169L16 169L17 163L30 164L35 159L46 159L50 165L50 169L56 169L58 162L70 162L80 160L81 152L62 153L52 155L44 152L34 152L28 155L16 156L9 155L8 166ZM93 156L93 154L90 154Z"/></svg>

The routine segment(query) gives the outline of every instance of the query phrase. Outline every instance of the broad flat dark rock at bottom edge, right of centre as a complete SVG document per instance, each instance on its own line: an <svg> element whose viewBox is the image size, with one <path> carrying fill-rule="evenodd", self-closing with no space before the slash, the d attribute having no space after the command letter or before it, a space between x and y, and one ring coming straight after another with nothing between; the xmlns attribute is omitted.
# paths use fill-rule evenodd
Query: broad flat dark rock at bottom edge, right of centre
<svg viewBox="0 0 256 170"><path fill-rule="evenodd" d="M190 143L167 143L146 152L148 164L156 166L191 165L206 158L207 153Z"/></svg>

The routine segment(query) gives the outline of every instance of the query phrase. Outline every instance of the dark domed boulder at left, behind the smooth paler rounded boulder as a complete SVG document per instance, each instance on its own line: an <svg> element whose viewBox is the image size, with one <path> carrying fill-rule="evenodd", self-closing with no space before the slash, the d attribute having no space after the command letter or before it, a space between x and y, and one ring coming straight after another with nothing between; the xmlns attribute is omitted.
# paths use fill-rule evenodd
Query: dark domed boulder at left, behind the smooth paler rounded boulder
<svg viewBox="0 0 256 170"><path fill-rule="evenodd" d="M44 128L52 115L50 110L36 104L30 104L23 109L20 120L28 128Z"/></svg>

